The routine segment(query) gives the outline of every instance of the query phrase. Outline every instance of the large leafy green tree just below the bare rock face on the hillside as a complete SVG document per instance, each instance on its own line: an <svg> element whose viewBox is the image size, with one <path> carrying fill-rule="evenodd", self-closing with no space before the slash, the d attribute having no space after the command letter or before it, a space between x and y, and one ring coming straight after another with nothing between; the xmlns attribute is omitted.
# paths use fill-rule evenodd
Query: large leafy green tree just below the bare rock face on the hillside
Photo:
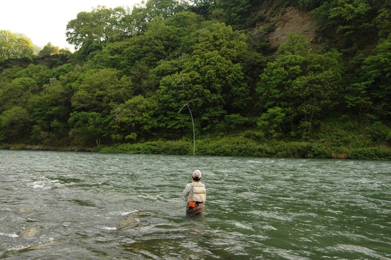
<svg viewBox="0 0 391 260"><path fill-rule="evenodd" d="M267 64L257 91L265 109L280 107L291 123L299 120L311 127L314 118L339 103L340 54L311 53L303 35L301 40L290 36L290 41L279 47L276 60ZM300 44L293 44L297 41Z"/></svg>

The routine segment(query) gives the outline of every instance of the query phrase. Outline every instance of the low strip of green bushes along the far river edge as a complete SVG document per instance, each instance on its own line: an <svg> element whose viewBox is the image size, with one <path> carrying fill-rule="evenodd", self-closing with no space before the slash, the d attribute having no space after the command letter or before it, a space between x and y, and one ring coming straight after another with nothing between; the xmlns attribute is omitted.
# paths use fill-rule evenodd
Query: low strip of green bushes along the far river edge
<svg viewBox="0 0 391 260"><path fill-rule="evenodd" d="M391 148L379 145L372 147L330 146L312 142L270 141L260 143L246 138L203 139L192 141L149 141L125 143L100 147L53 147L40 145L3 145L1 149L13 150L55 150L89 151L102 153L165 154L195 156L245 156L245 157L284 157L284 158L334 158L390 160Z"/></svg>

